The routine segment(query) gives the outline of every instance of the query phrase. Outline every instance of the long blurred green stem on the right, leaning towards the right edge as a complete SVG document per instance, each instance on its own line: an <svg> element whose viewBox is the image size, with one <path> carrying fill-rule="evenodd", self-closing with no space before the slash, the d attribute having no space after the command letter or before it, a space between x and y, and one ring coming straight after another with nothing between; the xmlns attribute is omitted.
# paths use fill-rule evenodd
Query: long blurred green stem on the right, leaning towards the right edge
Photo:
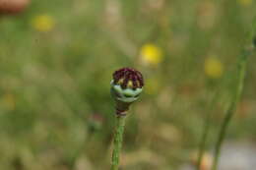
<svg viewBox="0 0 256 170"><path fill-rule="evenodd" d="M252 53L252 48L246 49L242 52L241 56L238 59L238 67L237 67L238 79L236 82L236 87L233 90L233 97L231 99L231 103L229 104L229 106L226 110L226 113L224 116L224 122L222 124L219 138L218 138L218 141L217 141L217 144L215 147L215 158L214 158L212 170L217 170L226 129L230 123L230 120L231 120L231 118L234 114L234 111L236 109L236 105L237 105L237 103L240 99L241 93L242 93L244 78L245 78L245 74L246 74L247 58L251 53Z"/></svg>

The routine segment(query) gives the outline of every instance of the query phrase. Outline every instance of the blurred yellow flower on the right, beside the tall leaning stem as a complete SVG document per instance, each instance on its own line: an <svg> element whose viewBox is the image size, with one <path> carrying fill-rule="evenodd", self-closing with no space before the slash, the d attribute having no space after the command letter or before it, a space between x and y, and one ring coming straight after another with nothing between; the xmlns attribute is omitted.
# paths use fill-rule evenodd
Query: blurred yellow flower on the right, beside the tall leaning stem
<svg viewBox="0 0 256 170"><path fill-rule="evenodd" d="M205 74L211 79L219 79L224 74L224 65L216 57L209 57L205 61Z"/></svg>

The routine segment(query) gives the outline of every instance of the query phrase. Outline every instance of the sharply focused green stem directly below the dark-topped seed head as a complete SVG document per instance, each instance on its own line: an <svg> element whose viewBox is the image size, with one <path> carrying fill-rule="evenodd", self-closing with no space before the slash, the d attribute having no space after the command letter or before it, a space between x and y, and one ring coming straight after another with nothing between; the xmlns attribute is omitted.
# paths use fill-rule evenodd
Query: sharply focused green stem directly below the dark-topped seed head
<svg viewBox="0 0 256 170"><path fill-rule="evenodd" d="M125 125L125 117L126 116L117 116L117 125L116 131L114 135L114 148L112 152L112 165L111 170L118 170L119 165L119 156L121 152L122 142L123 142L123 131Z"/></svg>

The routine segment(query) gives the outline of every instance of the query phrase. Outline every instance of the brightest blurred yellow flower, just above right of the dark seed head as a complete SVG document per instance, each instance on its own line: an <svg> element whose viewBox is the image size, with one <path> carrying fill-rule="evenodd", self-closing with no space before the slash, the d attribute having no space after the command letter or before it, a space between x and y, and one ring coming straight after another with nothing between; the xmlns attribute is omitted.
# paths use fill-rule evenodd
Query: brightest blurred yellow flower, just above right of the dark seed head
<svg viewBox="0 0 256 170"><path fill-rule="evenodd" d="M155 44L145 44L141 48L140 57L145 64L158 65L162 62L162 52Z"/></svg>

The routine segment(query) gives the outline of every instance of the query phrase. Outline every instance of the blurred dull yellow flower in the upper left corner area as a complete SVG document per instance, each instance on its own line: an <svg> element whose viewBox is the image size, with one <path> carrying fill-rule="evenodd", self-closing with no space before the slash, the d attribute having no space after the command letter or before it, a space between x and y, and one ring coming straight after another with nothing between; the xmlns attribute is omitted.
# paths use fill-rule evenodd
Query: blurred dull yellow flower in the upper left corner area
<svg viewBox="0 0 256 170"><path fill-rule="evenodd" d="M53 18L48 15L39 15L32 19L32 27L38 31L50 31L54 25Z"/></svg>

